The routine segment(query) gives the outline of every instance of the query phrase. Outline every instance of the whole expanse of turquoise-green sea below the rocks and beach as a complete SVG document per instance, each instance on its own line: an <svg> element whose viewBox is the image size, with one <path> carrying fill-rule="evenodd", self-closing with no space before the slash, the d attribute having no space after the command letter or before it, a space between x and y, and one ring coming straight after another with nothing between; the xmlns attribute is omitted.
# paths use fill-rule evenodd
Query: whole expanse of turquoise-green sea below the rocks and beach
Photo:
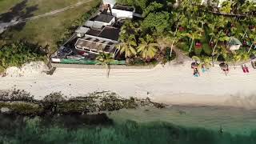
<svg viewBox="0 0 256 144"><path fill-rule="evenodd" d="M0 115L0 120L0 143L256 143L256 111L227 107L143 107L48 118Z"/></svg>

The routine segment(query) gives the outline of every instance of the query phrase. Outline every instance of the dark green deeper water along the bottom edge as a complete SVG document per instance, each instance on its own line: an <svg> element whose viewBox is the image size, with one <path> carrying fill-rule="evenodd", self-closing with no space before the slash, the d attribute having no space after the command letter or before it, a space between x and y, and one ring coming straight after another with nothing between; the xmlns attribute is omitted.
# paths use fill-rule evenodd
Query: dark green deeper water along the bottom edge
<svg viewBox="0 0 256 144"><path fill-rule="evenodd" d="M126 121L122 124L84 125L80 122L81 118L72 117L74 122L68 126L63 126L62 122L70 121L71 116L59 118L58 121L46 121L38 117L26 118L20 121L21 123L9 119L20 125L9 129L1 127L0 143L254 144L256 142L256 131L248 136L231 135L226 132L220 133L218 130L175 126L168 122ZM75 122L78 124L75 125Z"/></svg>

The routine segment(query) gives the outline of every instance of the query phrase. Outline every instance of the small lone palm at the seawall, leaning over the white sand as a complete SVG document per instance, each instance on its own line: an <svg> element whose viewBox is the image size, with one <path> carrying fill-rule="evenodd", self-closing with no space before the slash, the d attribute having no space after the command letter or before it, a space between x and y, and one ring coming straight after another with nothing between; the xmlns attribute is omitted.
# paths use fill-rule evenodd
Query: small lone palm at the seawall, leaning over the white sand
<svg viewBox="0 0 256 144"><path fill-rule="evenodd" d="M112 54L109 53L100 53L96 58L98 60L98 64L105 65L107 69L106 77L110 76L110 62L114 62L114 58Z"/></svg>

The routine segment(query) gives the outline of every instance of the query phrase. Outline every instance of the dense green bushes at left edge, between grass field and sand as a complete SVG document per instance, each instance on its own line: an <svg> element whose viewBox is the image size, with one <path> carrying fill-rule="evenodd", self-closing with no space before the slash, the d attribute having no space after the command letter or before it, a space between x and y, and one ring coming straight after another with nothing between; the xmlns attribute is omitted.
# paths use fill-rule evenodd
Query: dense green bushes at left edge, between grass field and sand
<svg viewBox="0 0 256 144"><path fill-rule="evenodd" d="M47 47L28 42L14 42L0 47L0 73L10 66L22 66L26 62L46 60Z"/></svg>

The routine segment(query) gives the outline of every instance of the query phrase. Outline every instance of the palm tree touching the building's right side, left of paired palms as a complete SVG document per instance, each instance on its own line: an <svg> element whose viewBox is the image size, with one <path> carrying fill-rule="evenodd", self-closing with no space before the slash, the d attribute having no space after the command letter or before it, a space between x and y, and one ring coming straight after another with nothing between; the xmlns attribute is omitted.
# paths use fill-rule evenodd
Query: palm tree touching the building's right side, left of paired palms
<svg viewBox="0 0 256 144"><path fill-rule="evenodd" d="M130 34L130 35L121 34L119 40L121 41L121 43L117 45L117 48L121 54L125 53L126 58L130 58L137 54L134 48L137 46L136 38L134 34Z"/></svg>

